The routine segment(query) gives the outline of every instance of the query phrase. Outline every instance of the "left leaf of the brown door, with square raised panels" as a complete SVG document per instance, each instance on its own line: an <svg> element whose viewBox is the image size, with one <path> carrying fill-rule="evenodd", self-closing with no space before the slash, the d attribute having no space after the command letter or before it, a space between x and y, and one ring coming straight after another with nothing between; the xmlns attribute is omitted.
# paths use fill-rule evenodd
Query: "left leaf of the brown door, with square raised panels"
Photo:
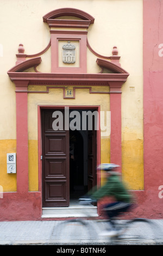
<svg viewBox="0 0 163 256"><path fill-rule="evenodd" d="M70 204L69 131L53 130L56 109L42 110L42 206ZM64 120L64 110L62 112ZM63 127L64 128L64 127Z"/></svg>

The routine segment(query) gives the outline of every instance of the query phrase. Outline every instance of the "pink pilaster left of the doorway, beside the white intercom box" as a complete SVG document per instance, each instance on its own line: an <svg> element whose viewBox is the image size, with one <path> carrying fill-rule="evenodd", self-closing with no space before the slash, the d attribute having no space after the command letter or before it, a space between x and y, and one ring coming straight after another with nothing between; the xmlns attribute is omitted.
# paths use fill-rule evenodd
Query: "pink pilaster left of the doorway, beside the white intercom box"
<svg viewBox="0 0 163 256"><path fill-rule="evenodd" d="M16 86L17 192L28 192L28 81Z"/></svg>

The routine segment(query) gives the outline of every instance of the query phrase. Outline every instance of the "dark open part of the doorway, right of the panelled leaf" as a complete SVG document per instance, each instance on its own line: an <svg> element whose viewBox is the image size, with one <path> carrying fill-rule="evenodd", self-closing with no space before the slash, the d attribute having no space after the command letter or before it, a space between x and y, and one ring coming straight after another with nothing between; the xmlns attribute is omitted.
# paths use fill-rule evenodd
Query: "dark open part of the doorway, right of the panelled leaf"
<svg viewBox="0 0 163 256"><path fill-rule="evenodd" d="M70 113L72 111L70 110ZM93 111L95 109L75 110L80 116L80 124L76 126L76 130L71 129L70 118L70 202L84 196L97 182L97 135ZM86 119L82 119L83 112L89 113ZM91 130L88 119L92 119ZM82 129L83 124L85 129Z"/></svg>

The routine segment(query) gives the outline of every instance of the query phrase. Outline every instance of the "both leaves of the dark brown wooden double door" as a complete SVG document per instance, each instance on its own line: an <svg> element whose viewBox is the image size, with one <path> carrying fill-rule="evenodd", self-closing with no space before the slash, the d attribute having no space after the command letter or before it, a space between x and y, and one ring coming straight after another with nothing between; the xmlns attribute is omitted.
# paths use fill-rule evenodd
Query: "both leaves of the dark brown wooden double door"
<svg viewBox="0 0 163 256"><path fill-rule="evenodd" d="M77 109L76 109L77 110ZM54 130L54 111L62 113L62 130ZM41 112L41 132L42 132L42 206L61 207L70 204L70 183L73 179L70 175L70 129L65 130L64 109L42 109ZM61 120L60 120L61 121ZM75 132L75 131L74 131ZM89 191L97 182L96 156L97 156L97 136L95 129L86 131L86 145L83 151L87 151L87 188ZM78 141L78 147L81 147ZM78 153L80 154L80 153ZM84 172L80 169L80 172ZM81 174L81 173L80 173ZM80 179L80 178L79 178Z"/></svg>

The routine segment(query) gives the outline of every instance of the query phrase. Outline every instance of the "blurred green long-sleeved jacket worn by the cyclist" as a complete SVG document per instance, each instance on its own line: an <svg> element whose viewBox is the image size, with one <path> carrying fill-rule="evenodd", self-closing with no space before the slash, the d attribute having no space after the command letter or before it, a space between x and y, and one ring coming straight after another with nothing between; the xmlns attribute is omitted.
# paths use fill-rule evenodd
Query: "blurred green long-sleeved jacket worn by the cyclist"
<svg viewBox="0 0 163 256"><path fill-rule="evenodd" d="M105 185L99 188L99 190L91 194L91 198L99 200L105 196L111 196L116 201L131 202L131 195L128 193L126 187L123 185L120 176L112 173Z"/></svg>

